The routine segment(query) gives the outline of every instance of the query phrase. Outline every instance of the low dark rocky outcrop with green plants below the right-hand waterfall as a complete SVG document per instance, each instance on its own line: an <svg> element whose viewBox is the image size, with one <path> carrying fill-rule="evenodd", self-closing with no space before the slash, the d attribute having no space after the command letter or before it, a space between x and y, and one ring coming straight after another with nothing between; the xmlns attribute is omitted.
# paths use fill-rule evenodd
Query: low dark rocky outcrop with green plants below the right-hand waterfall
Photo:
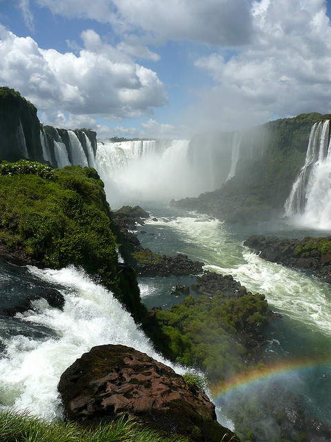
<svg viewBox="0 0 331 442"><path fill-rule="evenodd" d="M331 237L297 240L254 235L243 244L259 251L260 258L310 271L317 278L331 283Z"/></svg>

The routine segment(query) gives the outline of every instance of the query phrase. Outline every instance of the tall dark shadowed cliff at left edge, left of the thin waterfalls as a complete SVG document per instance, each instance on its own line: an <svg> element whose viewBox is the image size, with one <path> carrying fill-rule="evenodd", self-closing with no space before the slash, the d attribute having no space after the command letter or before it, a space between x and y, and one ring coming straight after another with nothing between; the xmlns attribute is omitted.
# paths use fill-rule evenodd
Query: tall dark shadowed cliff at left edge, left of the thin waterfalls
<svg viewBox="0 0 331 442"><path fill-rule="evenodd" d="M43 160L37 108L7 87L0 88L0 133L2 160L17 161L26 157Z"/></svg>

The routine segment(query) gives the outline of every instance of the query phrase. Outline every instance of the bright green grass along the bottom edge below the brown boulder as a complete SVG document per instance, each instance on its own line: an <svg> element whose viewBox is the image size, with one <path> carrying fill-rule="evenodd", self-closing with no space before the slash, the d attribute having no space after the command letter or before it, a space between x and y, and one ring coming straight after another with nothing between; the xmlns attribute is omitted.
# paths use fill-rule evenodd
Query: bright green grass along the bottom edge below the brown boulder
<svg viewBox="0 0 331 442"><path fill-rule="evenodd" d="M134 421L120 419L105 425L82 427L77 423L47 423L28 412L0 414L3 442L187 442L182 436L163 436Z"/></svg>

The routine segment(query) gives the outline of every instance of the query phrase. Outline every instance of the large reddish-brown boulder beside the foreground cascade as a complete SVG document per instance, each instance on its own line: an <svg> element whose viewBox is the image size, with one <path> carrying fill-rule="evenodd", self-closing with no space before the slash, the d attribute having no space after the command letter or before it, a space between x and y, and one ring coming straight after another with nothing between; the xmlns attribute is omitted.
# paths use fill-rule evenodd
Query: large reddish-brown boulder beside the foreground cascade
<svg viewBox="0 0 331 442"><path fill-rule="evenodd" d="M124 345L93 347L62 374L58 388L69 419L126 415L192 441L239 442L217 423L214 405L203 392L188 387L170 367Z"/></svg>

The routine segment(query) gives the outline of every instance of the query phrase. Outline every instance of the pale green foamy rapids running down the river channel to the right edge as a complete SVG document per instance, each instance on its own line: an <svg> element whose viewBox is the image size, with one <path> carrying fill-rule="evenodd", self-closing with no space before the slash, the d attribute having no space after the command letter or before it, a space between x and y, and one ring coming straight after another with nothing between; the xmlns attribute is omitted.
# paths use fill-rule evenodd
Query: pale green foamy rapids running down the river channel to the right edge
<svg viewBox="0 0 331 442"><path fill-rule="evenodd" d="M330 285L259 258L235 242L221 222L210 220L206 215L179 217L169 222L148 220L147 223L180 232L188 243L185 253L190 254L192 250L194 259L205 262L205 269L232 274L248 290L265 294L271 307L331 334Z"/></svg>

